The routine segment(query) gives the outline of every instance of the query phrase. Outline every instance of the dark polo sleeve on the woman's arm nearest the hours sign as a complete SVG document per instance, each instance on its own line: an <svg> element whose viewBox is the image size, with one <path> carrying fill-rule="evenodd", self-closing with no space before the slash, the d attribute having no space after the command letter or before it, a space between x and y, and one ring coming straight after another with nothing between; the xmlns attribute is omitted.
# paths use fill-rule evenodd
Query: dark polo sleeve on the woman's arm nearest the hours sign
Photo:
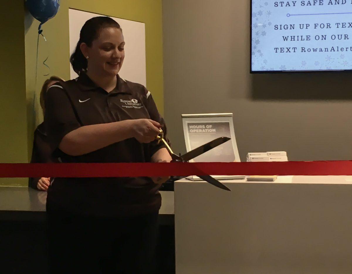
<svg viewBox="0 0 352 274"><path fill-rule="evenodd" d="M167 138L167 128L166 128L164 118L160 115L150 91L145 90L145 92L147 96L147 110L148 110L150 119L157 121L159 124L162 125L162 130L164 132L164 139L170 146L170 140ZM154 153L156 153L159 149L163 147L165 147L163 142L159 142L158 144L158 140L152 141L150 143L150 155L152 156Z"/></svg>

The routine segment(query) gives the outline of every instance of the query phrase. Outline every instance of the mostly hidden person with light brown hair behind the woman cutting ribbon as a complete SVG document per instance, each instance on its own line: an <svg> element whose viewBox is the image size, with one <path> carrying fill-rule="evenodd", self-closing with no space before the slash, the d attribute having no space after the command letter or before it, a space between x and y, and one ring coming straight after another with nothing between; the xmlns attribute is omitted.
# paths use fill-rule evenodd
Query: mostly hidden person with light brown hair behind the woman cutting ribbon
<svg viewBox="0 0 352 274"><path fill-rule="evenodd" d="M40 107L42 107L43 115L45 113L45 96L48 89L58 83L64 82L64 79L58 76L51 76L49 79L46 79L42 90L40 91ZM51 156L51 149L48 144L48 136L46 135L44 129L44 123L41 123L36 130L34 131L34 140L33 140L33 150L31 163L57 163L57 158ZM46 177L37 177L29 179L29 186L33 189L47 191L50 185L50 178Z"/></svg>

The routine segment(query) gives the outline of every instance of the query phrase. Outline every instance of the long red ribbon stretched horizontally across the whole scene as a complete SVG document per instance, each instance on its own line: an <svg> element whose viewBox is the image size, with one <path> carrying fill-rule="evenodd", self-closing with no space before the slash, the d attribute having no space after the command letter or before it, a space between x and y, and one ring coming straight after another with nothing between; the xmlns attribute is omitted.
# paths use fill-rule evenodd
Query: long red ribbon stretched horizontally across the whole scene
<svg viewBox="0 0 352 274"><path fill-rule="evenodd" d="M0 178L189 175L352 175L352 161L0 164Z"/></svg>

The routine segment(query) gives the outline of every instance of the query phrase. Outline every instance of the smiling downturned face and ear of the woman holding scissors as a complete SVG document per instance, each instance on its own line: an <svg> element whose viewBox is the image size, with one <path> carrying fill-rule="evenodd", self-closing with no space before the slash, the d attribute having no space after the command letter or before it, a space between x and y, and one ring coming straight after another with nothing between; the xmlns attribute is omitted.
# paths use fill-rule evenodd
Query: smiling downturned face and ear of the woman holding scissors
<svg viewBox="0 0 352 274"><path fill-rule="evenodd" d="M88 58L88 70L100 75L117 75L125 58L124 36L119 28L106 27L99 32L91 47L81 44L82 53Z"/></svg>

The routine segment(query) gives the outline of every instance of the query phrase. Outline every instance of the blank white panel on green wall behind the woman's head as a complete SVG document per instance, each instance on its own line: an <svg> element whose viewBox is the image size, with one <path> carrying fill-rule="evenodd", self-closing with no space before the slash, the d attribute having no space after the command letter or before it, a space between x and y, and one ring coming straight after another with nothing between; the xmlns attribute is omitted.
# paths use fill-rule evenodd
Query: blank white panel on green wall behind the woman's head
<svg viewBox="0 0 352 274"><path fill-rule="evenodd" d="M96 16L106 16L69 8L70 54L76 48L80 39L80 31L84 23ZM125 60L119 75L128 81L140 83L146 87L146 58L145 58L145 24L137 21L111 17L122 28L125 45ZM78 75L70 65L70 77Z"/></svg>

